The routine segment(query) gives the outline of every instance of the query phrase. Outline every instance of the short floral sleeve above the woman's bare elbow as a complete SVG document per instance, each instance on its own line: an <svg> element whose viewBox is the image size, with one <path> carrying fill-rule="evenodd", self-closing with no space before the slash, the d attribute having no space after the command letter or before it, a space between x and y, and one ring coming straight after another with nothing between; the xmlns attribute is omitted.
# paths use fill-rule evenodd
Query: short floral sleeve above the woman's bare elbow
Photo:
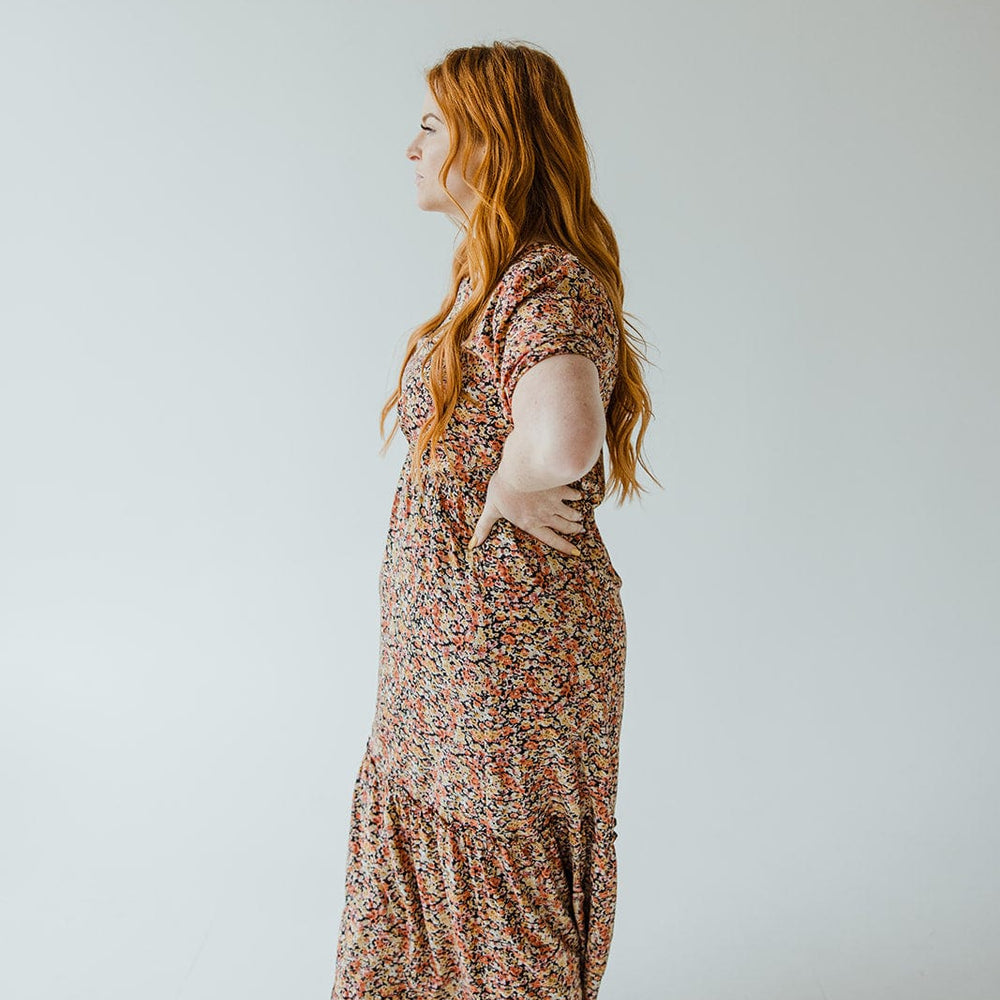
<svg viewBox="0 0 1000 1000"><path fill-rule="evenodd" d="M493 314L500 402L510 419L518 380L554 354L580 354L597 367L607 406L618 375L614 310L594 274L568 254L515 264Z"/></svg>

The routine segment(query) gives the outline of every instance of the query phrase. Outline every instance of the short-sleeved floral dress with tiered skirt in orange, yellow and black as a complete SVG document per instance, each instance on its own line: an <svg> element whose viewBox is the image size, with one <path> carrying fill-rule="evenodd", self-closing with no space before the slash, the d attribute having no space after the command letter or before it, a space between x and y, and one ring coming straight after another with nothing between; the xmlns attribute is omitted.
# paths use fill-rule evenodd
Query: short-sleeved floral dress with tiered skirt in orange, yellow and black
<svg viewBox="0 0 1000 1000"><path fill-rule="evenodd" d="M463 278L455 309L468 294ZM333 1000L597 996L617 892L625 666L621 578L594 520L603 459L574 484L579 556L504 518L467 547L519 377L581 354L607 406L618 336L594 274L562 247L530 244L464 345L445 473L419 488L409 472L432 412L429 342L404 371L410 448L379 575L375 718L351 805Z"/></svg>

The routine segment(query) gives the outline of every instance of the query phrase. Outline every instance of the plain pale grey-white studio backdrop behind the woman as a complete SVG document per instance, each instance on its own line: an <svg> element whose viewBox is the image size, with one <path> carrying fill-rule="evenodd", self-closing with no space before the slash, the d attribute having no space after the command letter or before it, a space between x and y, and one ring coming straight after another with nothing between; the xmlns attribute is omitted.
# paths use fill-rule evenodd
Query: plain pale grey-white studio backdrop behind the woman
<svg viewBox="0 0 1000 1000"><path fill-rule="evenodd" d="M404 150L515 38L657 366L602 997L1000 995L1000 5L4 0L5 998L329 996Z"/></svg>

